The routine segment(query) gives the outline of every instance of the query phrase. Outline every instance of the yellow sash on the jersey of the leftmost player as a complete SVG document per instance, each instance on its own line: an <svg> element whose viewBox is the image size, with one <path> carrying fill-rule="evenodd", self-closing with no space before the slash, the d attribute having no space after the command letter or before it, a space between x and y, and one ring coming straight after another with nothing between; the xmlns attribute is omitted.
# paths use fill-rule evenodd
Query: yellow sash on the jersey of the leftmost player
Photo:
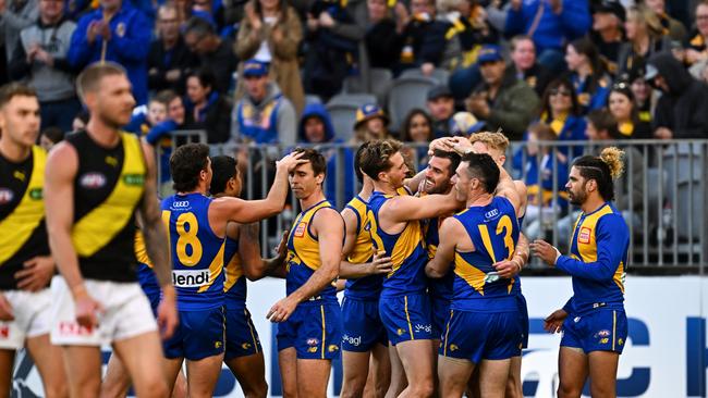
<svg viewBox="0 0 708 398"><path fill-rule="evenodd" d="M0 221L0 264L12 258L29 239L32 233L45 217L42 187L45 185L45 165L47 152L32 147L33 167L25 195L17 207L4 220Z"/></svg>

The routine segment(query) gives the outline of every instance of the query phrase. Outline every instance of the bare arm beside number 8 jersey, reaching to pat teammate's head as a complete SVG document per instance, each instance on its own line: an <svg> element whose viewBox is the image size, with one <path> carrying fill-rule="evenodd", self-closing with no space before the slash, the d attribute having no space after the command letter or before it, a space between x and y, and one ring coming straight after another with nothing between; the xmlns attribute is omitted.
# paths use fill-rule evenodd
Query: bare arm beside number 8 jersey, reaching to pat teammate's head
<svg viewBox="0 0 708 398"><path fill-rule="evenodd" d="M292 152L276 162L276 179L266 199L243 200L231 197L215 199L209 209L209 224L218 225L223 220L247 224L280 213L288 199L288 175L298 165L306 163L300 160L302 156L302 152Z"/></svg>

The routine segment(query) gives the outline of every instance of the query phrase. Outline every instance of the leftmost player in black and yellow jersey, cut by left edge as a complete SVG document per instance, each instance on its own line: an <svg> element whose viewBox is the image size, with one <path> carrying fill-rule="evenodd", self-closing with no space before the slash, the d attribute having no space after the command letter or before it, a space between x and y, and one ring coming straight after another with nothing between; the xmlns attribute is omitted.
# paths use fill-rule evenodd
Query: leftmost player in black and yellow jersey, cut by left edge
<svg viewBox="0 0 708 398"><path fill-rule="evenodd" d="M49 343L54 262L49 256L42 200L47 153L39 135L36 92L0 88L0 396L9 396L15 352L26 347L46 397L68 396L61 351Z"/></svg>

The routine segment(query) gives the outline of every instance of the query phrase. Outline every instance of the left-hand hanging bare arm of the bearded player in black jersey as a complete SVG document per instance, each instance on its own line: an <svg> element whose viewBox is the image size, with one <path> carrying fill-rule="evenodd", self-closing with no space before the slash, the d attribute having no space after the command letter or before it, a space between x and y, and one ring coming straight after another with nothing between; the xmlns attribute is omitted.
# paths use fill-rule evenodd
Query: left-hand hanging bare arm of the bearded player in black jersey
<svg viewBox="0 0 708 398"><path fill-rule="evenodd" d="M45 210L47 234L52 257L64 277L76 306L76 321L89 327L98 324L96 312L101 304L86 291L78 269L78 258L71 239L74 220L74 178L78 169L76 150L70 144L54 147L47 159L45 177Z"/></svg>

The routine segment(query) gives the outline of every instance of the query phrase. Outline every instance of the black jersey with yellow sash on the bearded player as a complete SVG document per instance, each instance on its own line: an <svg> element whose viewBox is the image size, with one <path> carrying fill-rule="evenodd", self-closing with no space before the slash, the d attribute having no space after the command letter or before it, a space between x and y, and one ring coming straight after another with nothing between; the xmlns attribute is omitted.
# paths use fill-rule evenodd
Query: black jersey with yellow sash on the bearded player
<svg viewBox="0 0 708 398"><path fill-rule="evenodd" d="M66 137L78 153L72 242L88 279L136 281L135 210L147 169L138 138L120 137L113 148L99 146L86 132Z"/></svg>

